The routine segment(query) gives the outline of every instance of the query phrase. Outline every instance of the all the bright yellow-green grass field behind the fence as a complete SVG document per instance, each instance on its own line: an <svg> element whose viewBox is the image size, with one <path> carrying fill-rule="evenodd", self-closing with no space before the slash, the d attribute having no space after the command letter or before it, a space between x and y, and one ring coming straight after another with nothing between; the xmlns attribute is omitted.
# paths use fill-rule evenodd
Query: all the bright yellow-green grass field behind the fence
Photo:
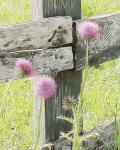
<svg viewBox="0 0 120 150"><path fill-rule="evenodd" d="M83 16L92 16L120 10L120 0L82 0ZM14 24L30 20L30 4L27 0L0 0L0 24ZM120 97L120 59L91 67L86 86L86 128L94 126L111 116L111 103ZM0 105L6 84L0 84ZM89 97L89 99L88 99ZM88 101L89 100L89 101ZM0 116L0 150L25 150L32 146L33 137L33 95L31 81L15 81L5 102L5 116ZM105 111L107 109L107 111ZM94 120L94 122L93 122Z"/></svg>

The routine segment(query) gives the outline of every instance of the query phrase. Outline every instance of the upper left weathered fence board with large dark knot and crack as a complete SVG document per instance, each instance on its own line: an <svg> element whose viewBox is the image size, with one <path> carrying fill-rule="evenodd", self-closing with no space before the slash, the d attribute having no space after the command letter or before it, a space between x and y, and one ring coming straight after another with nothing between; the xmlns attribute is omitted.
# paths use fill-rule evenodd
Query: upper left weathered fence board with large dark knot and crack
<svg viewBox="0 0 120 150"><path fill-rule="evenodd" d="M53 17L0 27L0 53L72 43L71 17Z"/></svg>

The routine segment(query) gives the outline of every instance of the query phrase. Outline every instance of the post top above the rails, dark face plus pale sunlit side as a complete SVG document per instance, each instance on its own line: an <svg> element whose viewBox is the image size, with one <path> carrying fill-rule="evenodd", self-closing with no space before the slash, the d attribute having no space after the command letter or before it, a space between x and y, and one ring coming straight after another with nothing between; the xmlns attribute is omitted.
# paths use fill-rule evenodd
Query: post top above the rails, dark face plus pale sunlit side
<svg viewBox="0 0 120 150"><path fill-rule="evenodd" d="M41 17L71 16L81 18L81 0L30 0L32 19Z"/></svg>

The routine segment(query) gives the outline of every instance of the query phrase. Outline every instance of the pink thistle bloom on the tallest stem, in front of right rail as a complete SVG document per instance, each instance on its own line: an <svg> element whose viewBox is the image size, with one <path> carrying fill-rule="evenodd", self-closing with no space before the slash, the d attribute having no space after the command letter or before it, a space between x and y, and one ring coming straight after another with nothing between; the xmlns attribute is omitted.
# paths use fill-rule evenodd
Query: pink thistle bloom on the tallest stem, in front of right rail
<svg viewBox="0 0 120 150"><path fill-rule="evenodd" d="M93 22L85 21L78 25L77 31L82 39L92 40L99 34L99 26Z"/></svg>

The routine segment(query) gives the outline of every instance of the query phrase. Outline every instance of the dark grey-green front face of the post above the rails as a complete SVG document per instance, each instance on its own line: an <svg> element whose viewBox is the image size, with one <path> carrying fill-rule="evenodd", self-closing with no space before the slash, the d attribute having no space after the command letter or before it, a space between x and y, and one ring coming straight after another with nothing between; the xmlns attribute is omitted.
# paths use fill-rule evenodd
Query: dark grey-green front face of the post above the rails
<svg viewBox="0 0 120 150"><path fill-rule="evenodd" d="M81 17L81 0L43 0L43 16Z"/></svg>

